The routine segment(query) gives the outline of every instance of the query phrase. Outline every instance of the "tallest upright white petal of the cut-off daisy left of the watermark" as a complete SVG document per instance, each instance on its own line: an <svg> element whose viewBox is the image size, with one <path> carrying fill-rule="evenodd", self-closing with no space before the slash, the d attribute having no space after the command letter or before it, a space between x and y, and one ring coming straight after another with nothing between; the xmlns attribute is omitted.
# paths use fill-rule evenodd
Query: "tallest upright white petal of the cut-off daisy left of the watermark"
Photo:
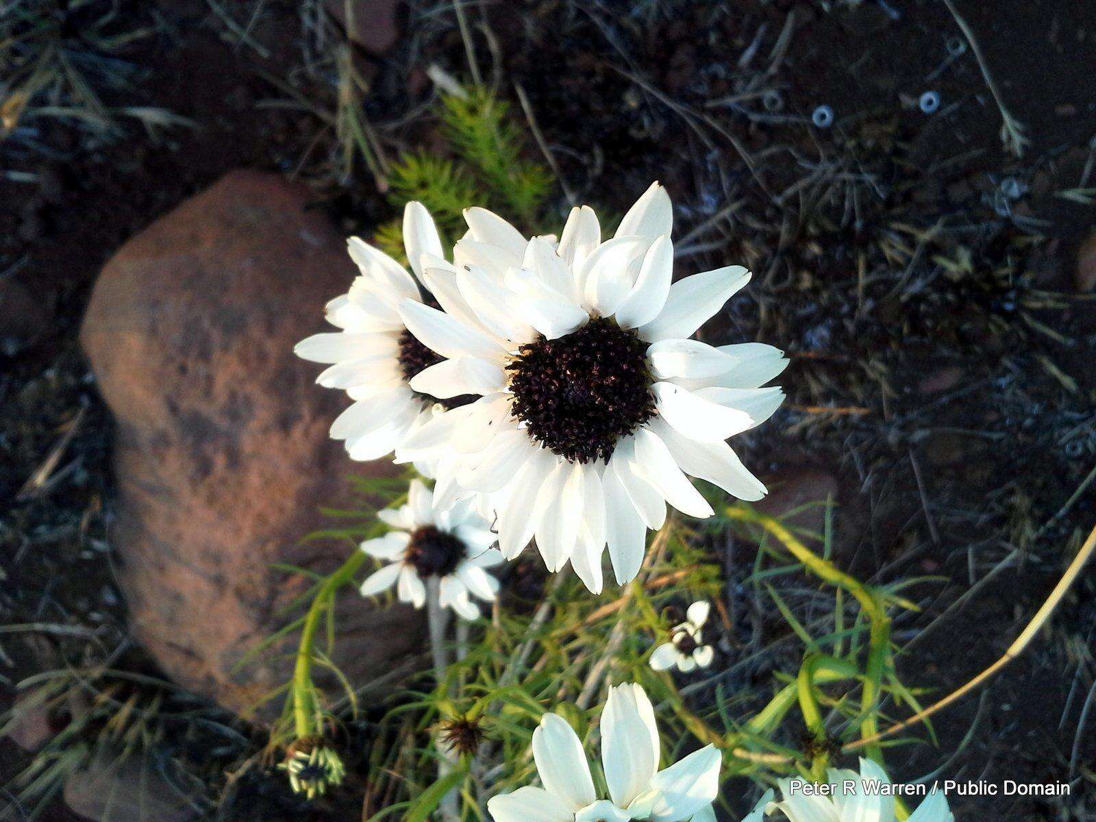
<svg viewBox="0 0 1096 822"><path fill-rule="evenodd" d="M609 688L609 698L602 711L602 765L609 796L619 808L627 808L632 799L646 791L659 768L658 737L652 744L647 717L637 704L637 693L643 694L643 690L632 685Z"/></svg>

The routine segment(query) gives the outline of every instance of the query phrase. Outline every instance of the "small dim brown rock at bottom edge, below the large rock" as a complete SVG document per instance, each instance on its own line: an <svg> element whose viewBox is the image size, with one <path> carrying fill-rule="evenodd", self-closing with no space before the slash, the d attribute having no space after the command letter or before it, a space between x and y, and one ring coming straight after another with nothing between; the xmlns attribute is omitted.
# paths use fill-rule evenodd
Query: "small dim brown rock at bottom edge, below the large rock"
<svg viewBox="0 0 1096 822"><path fill-rule="evenodd" d="M65 780L65 804L88 819L111 822L185 822L199 809L141 754L115 758L99 754Z"/></svg>

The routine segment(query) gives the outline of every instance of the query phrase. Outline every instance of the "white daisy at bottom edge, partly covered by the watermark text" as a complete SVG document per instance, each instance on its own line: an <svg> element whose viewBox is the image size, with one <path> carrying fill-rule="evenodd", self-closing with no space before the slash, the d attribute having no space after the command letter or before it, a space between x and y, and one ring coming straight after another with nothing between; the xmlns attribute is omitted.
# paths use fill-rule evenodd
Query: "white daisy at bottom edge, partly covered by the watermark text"
<svg viewBox="0 0 1096 822"><path fill-rule="evenodd" d="M845 780L855 785L845 792ZM789 822L894 822L894 797L883 796L879 786L890 785L886 772L871 760L860 760L860 773L831 768L829 783L836 786L834 796L806 796L792 790L790 779L778 784L784 800L773 802L768 812L780 810ZM933 790L906 822L955 822L941 790Z"/></svg>

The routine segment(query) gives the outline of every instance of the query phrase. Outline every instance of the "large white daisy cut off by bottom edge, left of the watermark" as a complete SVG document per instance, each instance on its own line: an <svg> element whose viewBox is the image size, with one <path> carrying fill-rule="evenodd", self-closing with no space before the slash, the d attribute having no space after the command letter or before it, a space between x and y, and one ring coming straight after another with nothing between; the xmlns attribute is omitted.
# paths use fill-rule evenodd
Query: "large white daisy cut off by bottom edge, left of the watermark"
<svg viewBox="0 0 1096 822"><path fill-rule="evenodd" d="M639 685L609 688L601 739L608 799L600 799L594 790L578 734L558 713L546 713L533 732L533 758L544 787L492 797L487 809L494 822L680 822L698 813L705 818L719 790L719 751L708 745L659 770L654 709Z"/></svg>

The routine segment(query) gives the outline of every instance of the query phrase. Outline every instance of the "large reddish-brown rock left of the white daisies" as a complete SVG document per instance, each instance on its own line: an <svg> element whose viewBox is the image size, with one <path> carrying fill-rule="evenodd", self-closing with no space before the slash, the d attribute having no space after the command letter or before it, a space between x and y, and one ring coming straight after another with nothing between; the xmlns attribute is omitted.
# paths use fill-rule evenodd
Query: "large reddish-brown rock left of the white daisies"
<svg viewBox="0 0 1096 822"><path fill-rule="evenodd" d="M233 172L129 240L92 293L81 341L117 421L112 539L134 629L165 673L248 715L286 681L273 649L233 670L307 589L271 563L328 571L346 544L301 544L345 502L328 437L345 400L295 342L322 330L353 267L307 189ZM423 619L340 601L335 661L364 683L418 651ZM270 706L276 710L277 706Z"/></svg>

